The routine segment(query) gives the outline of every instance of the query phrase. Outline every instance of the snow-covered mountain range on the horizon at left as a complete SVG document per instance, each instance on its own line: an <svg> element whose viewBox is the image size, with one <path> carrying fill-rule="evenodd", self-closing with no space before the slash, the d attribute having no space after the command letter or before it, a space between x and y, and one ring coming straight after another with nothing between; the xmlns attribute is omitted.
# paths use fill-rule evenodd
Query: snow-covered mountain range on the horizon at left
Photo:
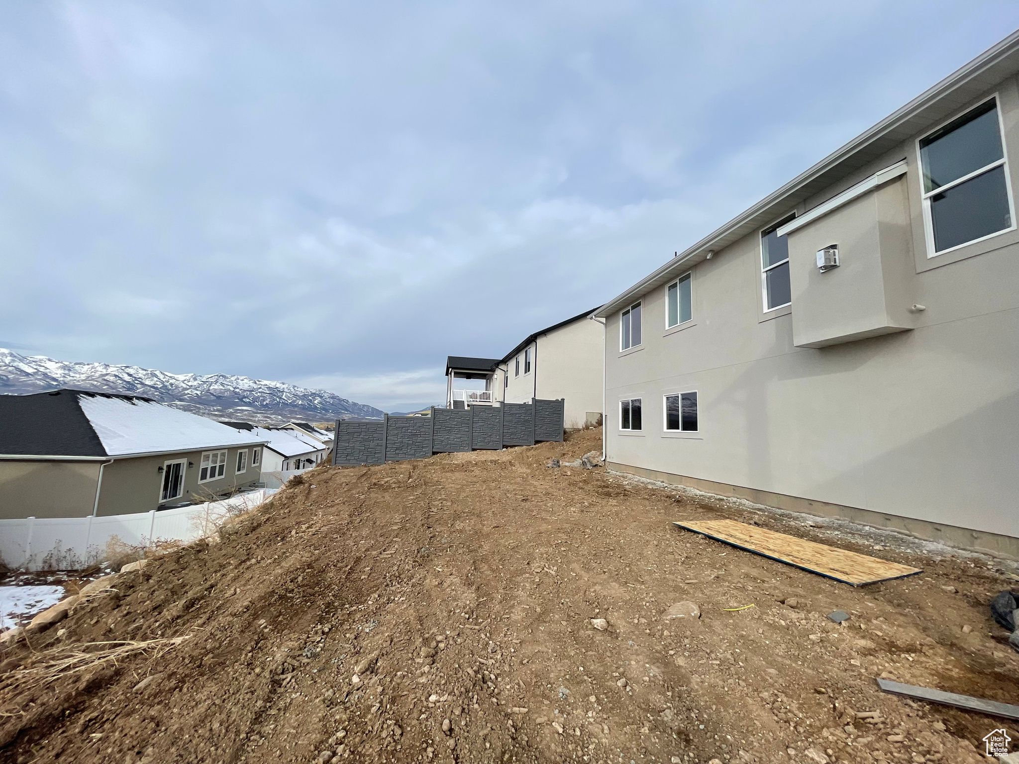
<svg viewBox="0 0 1019 764"><path fill-rule="evenodd" d="M144 395L211 419L265 424L381 419L382 412L326 390L232 374L168 374L137 366L66 363L0 348L0 393L72 387Z"/></svg>

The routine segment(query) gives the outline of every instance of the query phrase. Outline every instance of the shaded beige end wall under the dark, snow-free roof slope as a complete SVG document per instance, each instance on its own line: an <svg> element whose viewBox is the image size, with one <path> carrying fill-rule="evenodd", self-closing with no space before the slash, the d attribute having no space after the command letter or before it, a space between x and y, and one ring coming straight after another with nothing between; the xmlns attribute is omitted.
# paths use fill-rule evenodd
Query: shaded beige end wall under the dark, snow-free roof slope
<svg viewBox="0 0 1019 764"><path fill-rule="evenodd" d="M92 514L98 477L97 461L0 461L0 520Z"/></svg>

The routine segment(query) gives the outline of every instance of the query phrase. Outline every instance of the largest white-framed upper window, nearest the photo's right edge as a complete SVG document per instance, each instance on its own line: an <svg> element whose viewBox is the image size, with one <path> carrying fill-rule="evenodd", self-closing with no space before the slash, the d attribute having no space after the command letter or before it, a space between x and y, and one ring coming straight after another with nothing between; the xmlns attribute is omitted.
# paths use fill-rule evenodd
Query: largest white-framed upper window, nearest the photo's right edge
<svg viewBox="0 0 1019 764"><path fill-rule="evenodd" d="M1015 228L998 96L917 141L927 257Z"/></svg>

